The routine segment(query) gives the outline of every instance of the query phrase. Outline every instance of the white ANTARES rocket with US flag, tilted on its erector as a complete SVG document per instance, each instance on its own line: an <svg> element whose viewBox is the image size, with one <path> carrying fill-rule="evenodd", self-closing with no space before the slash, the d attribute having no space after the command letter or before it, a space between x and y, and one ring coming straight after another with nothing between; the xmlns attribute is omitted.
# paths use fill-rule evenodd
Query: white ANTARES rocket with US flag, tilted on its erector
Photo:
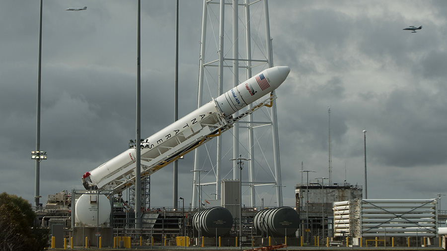
<svg viewBox="0 0 447 251"><path fill-rule="evenodd" d="M233 118L231 115L278 88L289 75L288 66L268 68L232 88L185 117L142 139L141 176L146 177L214 136L232 127L234 122L267 105L273 95L253 109ZM138 147L138 142L137 147ZM135 182L136 149L130 148L101 166L85 173L86 189L107 188L120 192Z"/></svg>

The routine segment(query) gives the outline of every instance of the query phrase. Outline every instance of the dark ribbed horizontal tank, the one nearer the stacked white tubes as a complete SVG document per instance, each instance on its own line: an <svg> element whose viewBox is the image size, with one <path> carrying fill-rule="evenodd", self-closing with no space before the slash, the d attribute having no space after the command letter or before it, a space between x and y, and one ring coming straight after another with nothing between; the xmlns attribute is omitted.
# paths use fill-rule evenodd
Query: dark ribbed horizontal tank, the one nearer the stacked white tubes
<svg viewBox="0 0 447 251"><path fill-rule="evenodd" d="M273 236L295 236L299 227L299 214L291 207L264 209L256 213L253 227L258 234Z"/></svg>

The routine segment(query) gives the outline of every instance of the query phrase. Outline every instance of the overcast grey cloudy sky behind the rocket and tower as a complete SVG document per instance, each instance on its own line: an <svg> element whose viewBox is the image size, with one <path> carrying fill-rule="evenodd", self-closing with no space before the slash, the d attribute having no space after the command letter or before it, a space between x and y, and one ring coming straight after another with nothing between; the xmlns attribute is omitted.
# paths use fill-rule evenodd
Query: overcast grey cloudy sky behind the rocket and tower
<svg viewBox="0 0 447 251"><path fill-rule="evenodd" d="M65 10L84 5L87 10ZM262 4L253 5L252 13L261 13ZM149 137L173 121L175 0L142 0L141 7L142 136ZM135 138L136 9L136 1L44 0L43 203L48 194L81 189L82 174ZM201 0L180 1L180 117L197 106L202 10ZM229 6L225 11L230 15ZM333 182L364 185L366 129L369 198L447 194L447 2L270 0L269 11L274 64L291 68L276 92L284 205L295 204L301 162L316 171L309 179L328 176L329 106ZM253 20L253 30L263 25ZM2 2L0 21L0 192L32 203L39 1ZM423 29L402 30L410 25ZM230 23L225 30L230 38ZM224 81L232 84L230 76ZM214 96L213 79L207 84L204 102ZM232 178L231 155L225 152L224 179ZM189 204L193 154L185 157L178 195ZM172 206L172 165L151 181L151 206ZM269 192L274 188L259 194L258 203L265 195L274 206Z"/></svg>

